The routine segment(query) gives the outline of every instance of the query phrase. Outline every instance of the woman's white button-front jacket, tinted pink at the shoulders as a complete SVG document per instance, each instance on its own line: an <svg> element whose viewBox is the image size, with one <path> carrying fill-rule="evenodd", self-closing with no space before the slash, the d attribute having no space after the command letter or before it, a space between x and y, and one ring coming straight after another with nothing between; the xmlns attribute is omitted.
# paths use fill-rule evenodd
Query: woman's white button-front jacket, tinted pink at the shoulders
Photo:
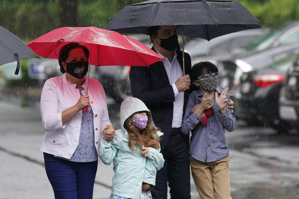
<svg viewBox="0 0 299 199"><path fill-rule="evenodd" d="M86 89L87 78L82 85ZM74 106L80 98L80 90L62 76L53 77L45 82L41 97L40 110L43 126L46 130L40 150L49 154L70 159L79 142L82 111L62 125L61 113ZM85 90L81 91L83 95ZM107 124L111 125L103 86L95 79L89 78L89 102L93 109L94 140L99 155L101 134ZM100 157L100 156L99 156Z"/></svg>

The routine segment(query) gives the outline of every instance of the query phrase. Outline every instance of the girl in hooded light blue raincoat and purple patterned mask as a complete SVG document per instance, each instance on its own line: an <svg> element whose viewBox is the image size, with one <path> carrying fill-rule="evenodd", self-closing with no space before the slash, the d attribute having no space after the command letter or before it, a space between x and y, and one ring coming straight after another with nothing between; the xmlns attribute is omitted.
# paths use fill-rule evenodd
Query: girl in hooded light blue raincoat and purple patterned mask
<svg viewBox="0 0 299 199"><path fill-rule="evenodd" d="M141 191L143 179L155 182L155 171L164 164L160 149L143 147L148 139L159 141L163 135L154 126L145 104L137 98L128 97L121 103L121 129L112 141L101 140L100 155L104 164L113 161L115 172L110 199L151 198L150 192Z"/></svg>

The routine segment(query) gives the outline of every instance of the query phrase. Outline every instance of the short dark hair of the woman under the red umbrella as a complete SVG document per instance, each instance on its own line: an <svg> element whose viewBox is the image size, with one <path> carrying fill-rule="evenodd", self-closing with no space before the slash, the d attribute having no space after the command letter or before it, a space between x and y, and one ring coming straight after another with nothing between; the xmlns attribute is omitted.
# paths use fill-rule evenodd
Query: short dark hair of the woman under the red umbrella
<svg viewBox="0 0 299 199"><path fill-rule="evenodd" d="M77 43L69 43L69 44L66 44L64 45L60 51L59 51L59 56L58 56L58 62L59 62L59 66L60 66L60 71L62 73L65 73L65 70L64 70L64 67L62 65L61 62L65 62L66 59L69 57L69 51L73 50L73 49L77 49L77 48L80 48L84 51L84 54L88 60L88 57L89 57L89 50L83 46L83 45L80 45L80 44L77 44Z"/></svg>

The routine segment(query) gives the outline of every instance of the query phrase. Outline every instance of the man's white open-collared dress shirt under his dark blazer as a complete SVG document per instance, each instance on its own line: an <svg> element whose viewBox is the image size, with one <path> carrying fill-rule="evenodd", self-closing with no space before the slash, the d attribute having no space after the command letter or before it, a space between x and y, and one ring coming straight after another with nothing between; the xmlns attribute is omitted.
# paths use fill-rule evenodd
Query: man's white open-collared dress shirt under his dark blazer
<svg viewBox="0 0 299 199"><path fill-rule="evenodd" d="M165 59L162 62L165 67L169 83L172 86L173 93L174 93L175 101L173 102L173 119L172 119L171 127L178 128L178 127L181 127L181 125L182 125L183 107L184 107L184 92L183 91L178 92L178 88L177 88L177 86L175 86L175 82L178 80L178 78L180 78L183 75L183 71L182 71L180 63L178 62L176 51L174 50L173 52L174 52L173 59L170 62L167 57L165 57L164 55L162 55L161 53L159 53L157 51L157 53Z"/></svg>

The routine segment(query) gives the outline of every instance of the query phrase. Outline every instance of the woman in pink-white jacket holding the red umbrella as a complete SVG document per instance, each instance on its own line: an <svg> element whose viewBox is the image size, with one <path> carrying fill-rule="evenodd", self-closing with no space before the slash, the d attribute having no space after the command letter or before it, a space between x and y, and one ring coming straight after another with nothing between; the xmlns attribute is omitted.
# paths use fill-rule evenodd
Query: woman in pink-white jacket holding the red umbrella
<svg viewBox="0 0 299 199"><path fill-rule="evenodd" d="M59 52L62 76L45 82L40 99L46 130L40 150L55 198L92 198L97 172L101 132L111 141L106 95L100 82L89 79L88 49L70 43ZM84 107L87 112L82 112Z"/></svg>

